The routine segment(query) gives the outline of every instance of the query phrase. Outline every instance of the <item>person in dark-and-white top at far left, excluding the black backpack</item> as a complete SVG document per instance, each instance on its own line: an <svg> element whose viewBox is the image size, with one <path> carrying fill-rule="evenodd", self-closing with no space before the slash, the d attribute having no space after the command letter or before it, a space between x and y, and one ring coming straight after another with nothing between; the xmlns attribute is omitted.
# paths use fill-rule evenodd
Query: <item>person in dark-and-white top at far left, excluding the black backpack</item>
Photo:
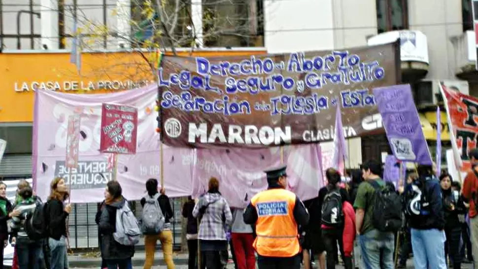
<svg viewBox="0 0 478 269"><path fill-rule="evenodd" d="M19 192L22 201L15 205L14 210L20 215L12 217L11 235L15 238L15 248L18 255L19 269L39 269L41 265L41 240L31 238L27 232L27 222L31 220L37 207L37 199L33 196L31 187Z"/></svg>

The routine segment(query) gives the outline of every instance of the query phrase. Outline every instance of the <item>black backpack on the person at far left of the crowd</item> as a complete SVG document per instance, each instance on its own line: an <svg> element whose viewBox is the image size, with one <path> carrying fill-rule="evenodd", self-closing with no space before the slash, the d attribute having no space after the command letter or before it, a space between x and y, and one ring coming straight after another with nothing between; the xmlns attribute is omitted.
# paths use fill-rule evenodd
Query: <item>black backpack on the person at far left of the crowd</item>
<svg viewBox="0 0 478 269"><path fill-rule="evenodd" d="M48 216L47 204L36 200L35 209L27 214L25 219L25 232L28 237L33 240L40 240L48 237Z"/></svg>

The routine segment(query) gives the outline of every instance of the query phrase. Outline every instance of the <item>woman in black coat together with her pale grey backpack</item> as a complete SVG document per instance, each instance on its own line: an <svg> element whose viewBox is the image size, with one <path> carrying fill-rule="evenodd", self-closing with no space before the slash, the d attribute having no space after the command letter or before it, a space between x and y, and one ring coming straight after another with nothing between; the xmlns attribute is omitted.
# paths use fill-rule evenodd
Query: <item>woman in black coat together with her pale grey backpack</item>
<svg viewBox="0 0 478 269"><path fill-rule="evenodd" d="M99 230L102 235L101 255L106 260L108 269L131 268L131 258L135 255L134 245L139 240L139 227L130 227L130 221L136 219L132 219L133 212L121 194L118 181L106 184L105 206L101 212ZM131 234L135 230L137 235Z"/></svg>

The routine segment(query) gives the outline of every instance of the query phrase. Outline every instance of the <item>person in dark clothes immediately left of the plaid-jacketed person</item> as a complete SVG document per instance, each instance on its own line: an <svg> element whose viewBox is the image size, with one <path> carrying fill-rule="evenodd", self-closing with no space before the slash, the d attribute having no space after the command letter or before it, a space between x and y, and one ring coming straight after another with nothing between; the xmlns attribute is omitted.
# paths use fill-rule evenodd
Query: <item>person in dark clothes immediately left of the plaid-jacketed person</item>
<svg viewBox="0 0 478 269"><path fill-rule="evenodd" d="M193 209L196 205L191 196L184 203L182 208L182 216L188 219L186 226L186 239L188 240L188 269L195 269L196 257L198 254L198 219L193 217Z"/></svg>

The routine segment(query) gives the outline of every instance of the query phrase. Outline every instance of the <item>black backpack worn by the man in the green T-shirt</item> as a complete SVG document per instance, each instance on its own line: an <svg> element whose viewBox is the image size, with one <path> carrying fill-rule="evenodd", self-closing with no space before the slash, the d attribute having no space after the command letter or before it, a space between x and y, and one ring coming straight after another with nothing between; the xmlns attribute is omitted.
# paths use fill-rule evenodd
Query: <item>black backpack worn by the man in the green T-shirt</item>
<svg viewBox="0 0 478 269"><path fill-rule="evenodd" d="M397 232L402 227L402 201L389 186L380 186L376 181L367 181L375 189L372 224L380 232Z"/></svg>

